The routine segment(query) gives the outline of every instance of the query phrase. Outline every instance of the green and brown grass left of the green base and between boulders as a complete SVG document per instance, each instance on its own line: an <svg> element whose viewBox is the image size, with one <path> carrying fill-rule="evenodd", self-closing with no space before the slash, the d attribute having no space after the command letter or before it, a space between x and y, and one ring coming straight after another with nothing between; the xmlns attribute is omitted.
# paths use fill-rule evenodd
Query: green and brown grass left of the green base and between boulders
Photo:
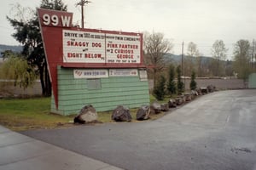
<svg viewBox="0 0 256 170"><path fill-rule="evenodd" d="M137 122L137 109L131 109L132 122ZM112 111L97 112L99 122L113 122ZM151 115L151 120L165 113ZM0 124L14 131L73 126L73 116L50 113L50 98L0 99Z"/></svg>

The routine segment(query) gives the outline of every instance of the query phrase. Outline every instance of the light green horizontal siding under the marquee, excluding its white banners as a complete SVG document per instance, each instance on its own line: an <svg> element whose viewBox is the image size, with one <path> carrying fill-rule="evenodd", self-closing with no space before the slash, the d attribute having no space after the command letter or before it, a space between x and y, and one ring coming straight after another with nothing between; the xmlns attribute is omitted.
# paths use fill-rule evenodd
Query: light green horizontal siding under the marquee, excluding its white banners
<svg viewBox="0 0 256 170"><path fill-rule="evenodd" d="M96 111L113 111L117 105L136 108L149 104L148 81L139 77L101 78L101 89L88 89L87 79L75 79L73 69L58 67L59 107L52 97L51 111L61 115L77 114L84 105Z"/></svg>

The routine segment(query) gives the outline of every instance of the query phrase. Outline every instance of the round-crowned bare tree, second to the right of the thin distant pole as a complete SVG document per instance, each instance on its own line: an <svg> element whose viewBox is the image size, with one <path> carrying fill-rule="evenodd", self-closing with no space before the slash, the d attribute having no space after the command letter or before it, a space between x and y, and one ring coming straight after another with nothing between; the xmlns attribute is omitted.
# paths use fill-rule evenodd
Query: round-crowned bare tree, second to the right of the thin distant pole
<svg viewBox="0 0 256 170"><path fill-rule="evenodd" d="M225 48L225 44L222 40L216 40L212 44L212 57L215 59L215 62L213 63L216 70L214 71L214 76L219 77L219 73L221 72L221 68L223 68L223 65L221 65L221 60L225 60L228 52L228 49Z"/></svg>

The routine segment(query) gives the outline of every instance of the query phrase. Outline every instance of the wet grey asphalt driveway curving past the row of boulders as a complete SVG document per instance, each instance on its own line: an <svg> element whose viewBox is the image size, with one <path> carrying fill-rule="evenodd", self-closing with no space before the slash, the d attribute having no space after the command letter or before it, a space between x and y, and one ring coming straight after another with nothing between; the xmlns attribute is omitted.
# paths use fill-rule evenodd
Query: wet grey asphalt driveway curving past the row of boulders
<svg viewBox="0 0 256 170"><path fill-rule="evenodd" d="M207 94L154 122L24 134L129 170L256 170L256 90Z"/></svg>

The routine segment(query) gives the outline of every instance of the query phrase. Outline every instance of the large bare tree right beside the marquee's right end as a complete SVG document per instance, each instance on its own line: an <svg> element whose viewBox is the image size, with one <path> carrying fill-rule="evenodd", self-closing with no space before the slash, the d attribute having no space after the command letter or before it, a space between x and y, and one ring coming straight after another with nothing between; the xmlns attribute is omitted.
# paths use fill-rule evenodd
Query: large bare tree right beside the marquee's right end
<svg viewBox="0 0 256 170"><path fill-rule="evenodd" d="M160 32L144 33L145 62L149 67L149 75L154 78L154 84L157 76L165 67L164 56L172 47L172 42L165 39L164 34Z"/></svg>

